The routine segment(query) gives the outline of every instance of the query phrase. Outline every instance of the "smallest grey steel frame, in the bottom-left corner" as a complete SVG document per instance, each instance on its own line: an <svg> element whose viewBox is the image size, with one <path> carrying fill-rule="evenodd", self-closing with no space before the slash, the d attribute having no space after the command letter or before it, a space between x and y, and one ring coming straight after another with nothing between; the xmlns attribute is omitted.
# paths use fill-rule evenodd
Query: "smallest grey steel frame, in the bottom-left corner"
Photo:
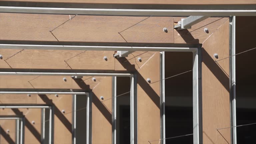
<svg viewBox="0 0 256 144"><path fill-rule="evenodd" d="M24 123L25 119L24 116L19 115L0 115L0 120L16 120L15 121L15 144L24 144Z"/></svg>

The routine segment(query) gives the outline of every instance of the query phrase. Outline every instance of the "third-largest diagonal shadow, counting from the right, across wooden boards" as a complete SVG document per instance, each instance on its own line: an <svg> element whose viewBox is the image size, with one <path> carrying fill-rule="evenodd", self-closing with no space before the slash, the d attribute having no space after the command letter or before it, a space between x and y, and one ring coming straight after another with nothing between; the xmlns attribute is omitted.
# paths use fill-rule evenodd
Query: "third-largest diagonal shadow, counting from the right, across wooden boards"
<svg viewBox="0 0 256 144"><path fill-rule="evenodd" d="M74 79L74 81L77 83L77 85L85 90L90 91L92 93L92 102L95 104L95 106L100 110L100 112L103 114L103 116L108 120L110 124L112 124L112 114L110 113L109 109L99 100L99 98L92 92L92 89L90 89L90 86L87 85L81 78L80 79Z"/></svg>

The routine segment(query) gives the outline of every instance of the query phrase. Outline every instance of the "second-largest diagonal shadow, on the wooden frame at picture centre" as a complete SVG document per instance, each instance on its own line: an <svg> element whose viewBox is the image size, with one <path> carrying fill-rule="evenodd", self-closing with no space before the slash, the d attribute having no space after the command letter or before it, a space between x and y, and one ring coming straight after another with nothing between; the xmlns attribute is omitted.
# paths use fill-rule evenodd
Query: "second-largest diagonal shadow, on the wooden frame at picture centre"
<svg viewBox="0 0 256 144"><path fill-rule="evenodd" d="M117 59L119 63L127 70L135 69L135 65L132 65L126 58L123 58L126 62L123 63L121 59ZM151 88L148 82L143 78L143 76L138 72L137 73L138 84L146 92L146 94L151 98L155 105L160 109L160 97L159 95Z"/></svg>

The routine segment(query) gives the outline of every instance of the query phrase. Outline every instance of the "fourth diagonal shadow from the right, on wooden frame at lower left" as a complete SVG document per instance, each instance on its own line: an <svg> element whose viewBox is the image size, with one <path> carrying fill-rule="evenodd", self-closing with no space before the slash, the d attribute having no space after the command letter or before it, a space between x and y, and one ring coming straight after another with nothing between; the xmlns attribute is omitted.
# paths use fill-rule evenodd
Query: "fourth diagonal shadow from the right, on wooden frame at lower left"
<svg viewBox="0 0 256 144"><path fill-rule="evenodd" d="M51 99L47 97L47 95L38 95L46 104L52 105L54 107L54 115L56 115L59 120L64 124L64 126L72 133L72 124L68 121L68 119L62 114L62 112L56 107L56 105L52 102Z"/></svg>

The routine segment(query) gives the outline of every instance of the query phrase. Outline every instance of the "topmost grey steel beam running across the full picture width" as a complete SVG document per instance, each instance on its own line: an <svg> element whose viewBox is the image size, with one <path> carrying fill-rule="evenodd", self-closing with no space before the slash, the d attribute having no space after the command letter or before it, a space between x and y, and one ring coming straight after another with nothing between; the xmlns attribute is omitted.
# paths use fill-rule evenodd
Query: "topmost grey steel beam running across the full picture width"
<svg viewBox="0 0 256 144"><path fill-rule="evenodd" d="M242 7L242 6L241 6ZM255 16L256 10L158 10L158 9L93 9L0 6L3 13L78 14L111 16Z"/></svg>

